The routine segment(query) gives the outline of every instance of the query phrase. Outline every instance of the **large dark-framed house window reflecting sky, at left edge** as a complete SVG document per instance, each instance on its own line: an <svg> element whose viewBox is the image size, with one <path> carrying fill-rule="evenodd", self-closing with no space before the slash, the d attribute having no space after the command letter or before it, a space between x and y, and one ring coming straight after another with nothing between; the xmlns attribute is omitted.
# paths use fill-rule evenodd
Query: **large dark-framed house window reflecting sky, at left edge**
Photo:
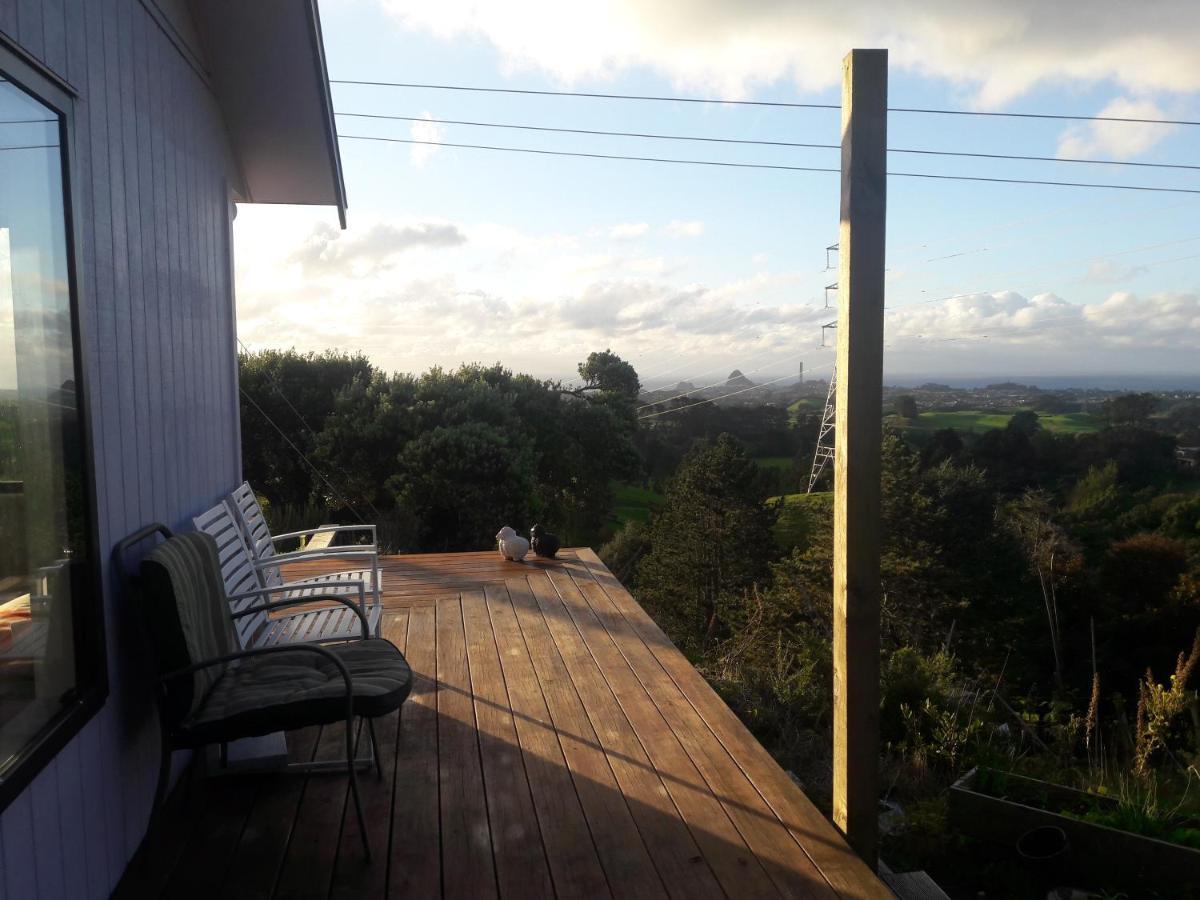
<svg viewBox="0 0 1200 900"><path fill-rule="evenodd" d="M106 690L68 204L71 98L0 47L0 806Z"/></svg>

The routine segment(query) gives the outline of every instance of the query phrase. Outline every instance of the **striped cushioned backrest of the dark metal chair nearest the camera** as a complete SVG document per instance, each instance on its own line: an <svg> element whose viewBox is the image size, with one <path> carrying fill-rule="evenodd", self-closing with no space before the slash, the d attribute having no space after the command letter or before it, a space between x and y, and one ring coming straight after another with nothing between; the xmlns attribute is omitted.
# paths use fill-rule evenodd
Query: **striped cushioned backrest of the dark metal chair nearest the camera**
<svg viewBox="0 0 1200 900"><path fill-rule="evenodd" d="M211 535L190 532L155 547L142 560L140 602L162 674L238 649ZM192 713L224 668L220 664L168 682L167 722L174 725Z"/></svg>

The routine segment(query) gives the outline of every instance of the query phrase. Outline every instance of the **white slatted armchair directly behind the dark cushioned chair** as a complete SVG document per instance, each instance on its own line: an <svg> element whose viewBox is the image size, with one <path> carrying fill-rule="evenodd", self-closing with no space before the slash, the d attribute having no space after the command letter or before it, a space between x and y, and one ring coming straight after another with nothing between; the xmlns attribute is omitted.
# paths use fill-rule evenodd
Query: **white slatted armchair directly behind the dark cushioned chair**
<svg viewBox="0 0 1200 900"><path fill-rule="evenodd" d="M370 569L331 572L290 582L283 581L280 576L277 583L269 583L266 576L269 570L278 572L281 563L300 562L312 557L300 551L272 554L266 560L254 559L228 500L222 500L212 509L202 512L192 522L198 530L211 535L217 544L221 577L224 581L230 610L235 616L265 600L292 604L312 599L312 607L298 612L269 617L263 611L235 618L238 641L242 647L354 640L360 631L360 612L366 618L371 634L379 634L383 607L379 602L379 592L376 589L378 580L372 580ZM344 550L341 556L366 559L371 557L371 552ZM335 599L335 602L330 604L329 599ZM352 600L358 611L348 608L340 601L341 599Z"/></svg>

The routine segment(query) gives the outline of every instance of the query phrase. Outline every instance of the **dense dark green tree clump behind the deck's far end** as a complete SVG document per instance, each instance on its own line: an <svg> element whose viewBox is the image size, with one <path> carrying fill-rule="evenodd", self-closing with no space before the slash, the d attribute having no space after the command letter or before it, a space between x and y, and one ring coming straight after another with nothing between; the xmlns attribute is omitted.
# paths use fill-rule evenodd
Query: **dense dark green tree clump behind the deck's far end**
<svg viewBox="0 0 1200 900"><path fill-rule="evenodd" d="M390 376L331 354L257 354L244 370L258 371L264 356L284 373L307 366L307 380L290 382L325 389L307 398L284 377L244 382L258 404L244 412L253 422L244 425L247 479L276 506L316 498L335 517L379 520L396 550L478 550L500 526L527 530L538 520L590 541L607 522L613 480L637 472L636 374L613 354L581 365L576 390L502 366ZM258 407L276 422L292 413L282 400L282 412L268 406L276 384L311 427L288 434L307 462L266 431Z"/></svg>

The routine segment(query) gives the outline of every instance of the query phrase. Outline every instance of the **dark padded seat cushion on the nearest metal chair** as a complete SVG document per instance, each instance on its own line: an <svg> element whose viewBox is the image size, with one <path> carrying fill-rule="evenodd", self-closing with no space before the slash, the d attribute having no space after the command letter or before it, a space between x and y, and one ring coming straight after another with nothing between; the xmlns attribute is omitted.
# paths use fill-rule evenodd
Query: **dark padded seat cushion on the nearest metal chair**
<svg viewBox="0 0 1200 900"><path fill-rule="evenodd" d="M332 660L312 647L290 644L230 665L180 725L176 743L198 746L343 720L346 682ZM322 649L349 670L355 715L394 712L413 686L413 672L390 641L371 638Z"/></svg>

